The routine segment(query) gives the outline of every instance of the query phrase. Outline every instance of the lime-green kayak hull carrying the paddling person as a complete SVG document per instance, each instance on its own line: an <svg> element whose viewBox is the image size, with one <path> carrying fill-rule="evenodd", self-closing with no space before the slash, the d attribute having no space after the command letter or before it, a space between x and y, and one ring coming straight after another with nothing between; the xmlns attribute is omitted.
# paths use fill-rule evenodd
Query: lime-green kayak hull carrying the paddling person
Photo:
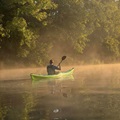
<svg viewBox="0 0 120 120"><path fill-rule="evenodd" d="M31 73L30 76L33 81L43 80L43 79L59 79L59 78L69 77L73 74L73 72L74 72L74 68L64 71L64 72L60 72L55 75L41 75L41 74Z"/></svg>

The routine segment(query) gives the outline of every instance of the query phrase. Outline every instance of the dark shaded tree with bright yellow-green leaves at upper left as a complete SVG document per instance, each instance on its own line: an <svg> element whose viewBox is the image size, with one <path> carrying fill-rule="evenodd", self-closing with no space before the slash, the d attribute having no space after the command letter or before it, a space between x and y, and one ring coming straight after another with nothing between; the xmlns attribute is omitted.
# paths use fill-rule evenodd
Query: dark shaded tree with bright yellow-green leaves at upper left
<svg viewBox="0 0 120 120"><path fill-rule="evenodd" d="M1 0L0 6L0 54L4 53L3 59L26 58L33 54L39 30L47 25L51 10L57 5L51 0Z"/></svg>

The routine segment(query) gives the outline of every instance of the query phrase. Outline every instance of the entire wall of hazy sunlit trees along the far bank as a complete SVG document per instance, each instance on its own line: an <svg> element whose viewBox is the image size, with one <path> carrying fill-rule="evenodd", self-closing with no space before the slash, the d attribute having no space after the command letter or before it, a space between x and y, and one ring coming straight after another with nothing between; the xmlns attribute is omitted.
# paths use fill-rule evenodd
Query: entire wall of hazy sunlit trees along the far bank
<svg viewBox="0 0 120 120"><path fill-rule="evenodd" d="M120 1L0 1L0 68L63 55L65 65L120 62Z"/></svg>

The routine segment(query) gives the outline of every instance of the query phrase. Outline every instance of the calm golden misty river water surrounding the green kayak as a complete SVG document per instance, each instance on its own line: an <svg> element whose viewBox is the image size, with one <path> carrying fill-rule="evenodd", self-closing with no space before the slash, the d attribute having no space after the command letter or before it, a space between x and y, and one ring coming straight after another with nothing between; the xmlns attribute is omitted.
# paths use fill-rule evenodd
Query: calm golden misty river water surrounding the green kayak
<svg viewBox="0 0 120 120"><path fill-rule="evenodd" d="M74 80L32 83L46 68L0 70L0 119L118 120L120 64L74 67Z"/></svg>

